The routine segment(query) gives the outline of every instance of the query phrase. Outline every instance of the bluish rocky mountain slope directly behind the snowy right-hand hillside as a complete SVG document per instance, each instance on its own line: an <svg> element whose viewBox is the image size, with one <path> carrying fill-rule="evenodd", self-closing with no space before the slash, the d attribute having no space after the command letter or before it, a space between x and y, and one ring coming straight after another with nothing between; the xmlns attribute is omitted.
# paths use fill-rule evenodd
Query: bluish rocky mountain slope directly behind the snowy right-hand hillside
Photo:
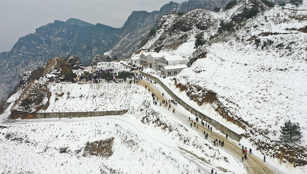
<svg viewBox="0 0 307 174"><path fill-rule="evenodd" d="M134 11L120 29L118 38L114 40L112 49L106 54L116 55L120 58L131 56L137 49L143 38L146 38L150 29L156 26L157 21L165 14L170 14L173 8L181 12L187 12L195 8L213 10L214 7L225 7L228 1L187 1L178 4L169 2L162 6L159 11Z"/></svg>

